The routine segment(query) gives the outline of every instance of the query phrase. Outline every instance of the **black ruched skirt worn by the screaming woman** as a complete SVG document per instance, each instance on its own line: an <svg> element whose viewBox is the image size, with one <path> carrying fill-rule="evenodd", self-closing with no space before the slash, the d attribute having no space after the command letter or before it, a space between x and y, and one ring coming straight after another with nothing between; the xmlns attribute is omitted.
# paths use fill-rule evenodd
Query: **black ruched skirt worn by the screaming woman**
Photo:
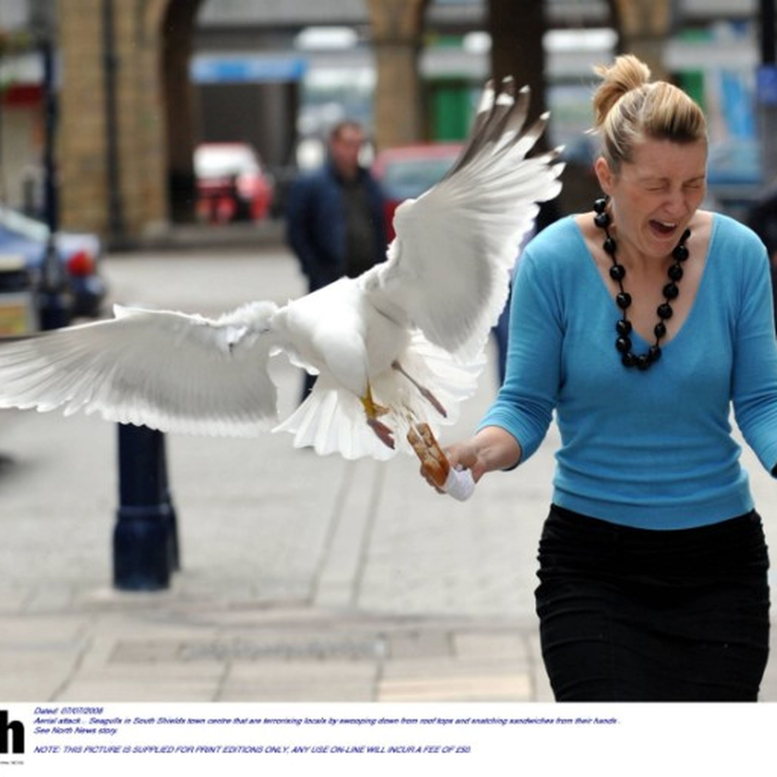
<svg viewBox="0 0 777 777"><path fill-rule="evenodd" d="M768 551L755 511L651 531L553 506L535 591L557 701L756 701Z"/></svg>

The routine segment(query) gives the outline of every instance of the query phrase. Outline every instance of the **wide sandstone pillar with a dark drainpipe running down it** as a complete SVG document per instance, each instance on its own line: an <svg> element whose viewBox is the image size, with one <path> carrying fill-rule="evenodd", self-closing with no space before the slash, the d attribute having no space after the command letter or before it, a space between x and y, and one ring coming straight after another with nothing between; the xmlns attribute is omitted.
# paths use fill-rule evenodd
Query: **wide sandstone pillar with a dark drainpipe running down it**
<svg viewBox="0 0 777 777"><path fill-rule="evenodd" d="M110 236L110 195L127 239L167 221L160 21L169 0L113 0L115 144L110 191L103 0L57 0L61 62L60 222ZM141 12L142 11L142 12Z"/></svg>

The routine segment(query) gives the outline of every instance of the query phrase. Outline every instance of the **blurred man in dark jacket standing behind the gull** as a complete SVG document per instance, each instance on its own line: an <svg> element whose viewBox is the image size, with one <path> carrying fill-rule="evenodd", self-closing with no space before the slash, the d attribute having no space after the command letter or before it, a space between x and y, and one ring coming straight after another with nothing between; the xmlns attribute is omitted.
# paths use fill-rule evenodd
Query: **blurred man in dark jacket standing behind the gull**
<svg viewBox="0 0 777 777"><path fill-rule="evenodd" d="M308 291L343 276L357 277L385 259L385 204L380 185L361 165L364 141L358 122L336 124L326 162L291 186L287 242L308 279ZM303 399L313 382L306 375Z"/></svg>

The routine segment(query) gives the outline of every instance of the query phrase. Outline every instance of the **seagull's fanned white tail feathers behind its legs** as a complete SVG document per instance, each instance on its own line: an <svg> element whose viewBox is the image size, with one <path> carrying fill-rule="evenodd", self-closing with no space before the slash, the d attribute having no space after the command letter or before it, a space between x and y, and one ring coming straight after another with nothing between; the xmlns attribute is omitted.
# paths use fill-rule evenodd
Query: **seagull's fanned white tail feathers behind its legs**
<svg viewBox="0 0 777 777"><path fill-rule="evenodd" d="M409 427L425 421L438 434L442 425L455 423L461 402L476 392L486 364L485 357L462 363L418 330L398 362L405 374L388 368L371 380L375 402L388 411L378 420L392 430L394 448L381 441L368 425L358 397L340 388L326 373L319 375L305 402L274 431L293 434L295 448L312 448L319 455L336 453L347 459L386 461L397 451L412 454L406 441ZM423 395L418 386L427 389L428 394Z"/></svg>

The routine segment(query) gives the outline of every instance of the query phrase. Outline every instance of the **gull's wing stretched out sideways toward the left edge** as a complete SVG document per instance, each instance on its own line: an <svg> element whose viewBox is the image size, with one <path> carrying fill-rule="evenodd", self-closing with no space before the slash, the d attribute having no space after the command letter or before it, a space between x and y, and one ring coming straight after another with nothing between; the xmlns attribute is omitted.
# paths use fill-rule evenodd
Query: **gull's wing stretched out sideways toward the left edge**
<svg viewBox="0 0 777 777"><path fill-rule="evenodd" d="M215 320L114 309L115 319L0 345L0 407L214 436L253 436L277 420L273 303Z"/></svg>

